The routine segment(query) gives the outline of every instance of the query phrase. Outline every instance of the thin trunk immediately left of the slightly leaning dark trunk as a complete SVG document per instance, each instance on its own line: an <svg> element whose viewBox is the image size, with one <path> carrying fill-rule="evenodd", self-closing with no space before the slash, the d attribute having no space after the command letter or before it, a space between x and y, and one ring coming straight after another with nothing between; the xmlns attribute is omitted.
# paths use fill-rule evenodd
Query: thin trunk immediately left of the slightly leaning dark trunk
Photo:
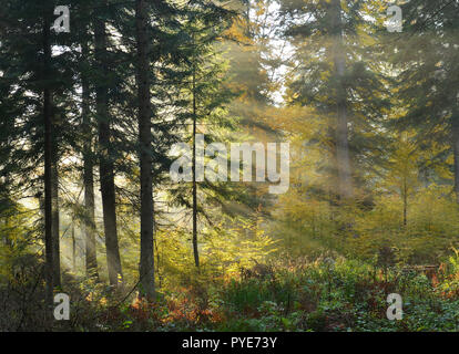
<svg viewBox="0 0 459 354"><path fill-rule="evenodd" d="M89 56L88 43L82 44L83 58ZM83 184L84 184L84 207L86 211L86 222L84 225L85 235L85 266L86 275L99 278L98 257L95 249L95 210L94 210L94 163L92 147L92 126L90 117L90 87L85 73L82 77L82 116L83 116Z"/></svg>

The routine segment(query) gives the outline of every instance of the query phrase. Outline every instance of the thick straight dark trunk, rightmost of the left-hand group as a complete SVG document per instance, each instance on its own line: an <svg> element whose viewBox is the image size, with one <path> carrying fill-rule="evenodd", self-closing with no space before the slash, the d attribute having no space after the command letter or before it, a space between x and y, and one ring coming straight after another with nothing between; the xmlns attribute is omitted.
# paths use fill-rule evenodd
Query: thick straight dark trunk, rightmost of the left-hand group
<svg viewBox="0 0 459 354"><path fill-rule="evenodd" d="M154 299L154 256L153 256L153 159L152 159L152 110L150 103L150 64L147 11L144 0L135 1L135 29L137 42L137 98L139 98L139 142L141 168L141 257L140 283L142 295Z"/></svg>

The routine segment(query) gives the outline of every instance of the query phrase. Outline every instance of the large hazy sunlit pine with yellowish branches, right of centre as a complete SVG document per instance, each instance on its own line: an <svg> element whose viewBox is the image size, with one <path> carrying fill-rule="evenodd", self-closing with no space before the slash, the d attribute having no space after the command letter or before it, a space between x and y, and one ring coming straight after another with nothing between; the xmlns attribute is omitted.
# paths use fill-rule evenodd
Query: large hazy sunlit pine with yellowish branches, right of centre
<svg viewBox="0 0 459 354"><path fill-rule="evenodd" d="M322 194L350 201L361 187L359 175L378 156L375 127L388 112L381 45L369 20L379 17L379 7L359 0L280 3L285 37L295 48L287 102L314 108L328 126L314 139L328 155L322 166L328 186L320 187Z"/></svg>

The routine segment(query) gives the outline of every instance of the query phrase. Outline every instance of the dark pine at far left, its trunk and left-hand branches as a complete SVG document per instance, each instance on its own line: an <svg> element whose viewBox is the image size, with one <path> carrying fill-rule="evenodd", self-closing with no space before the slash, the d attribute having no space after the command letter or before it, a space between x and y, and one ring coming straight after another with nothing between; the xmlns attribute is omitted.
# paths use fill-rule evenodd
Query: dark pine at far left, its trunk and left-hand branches
<svg viewBox="0 0 459 354"><path fill-rule="evenodd" d="M2 81L10 91L7 96L14 97L14 105L19 112L22 111L22 114L8 117L20 128L9 132L14 143L9 147L11 155L6 169L16 186L35 190L40 198L44 191L47 304L52 303L53 288L60 285L58 162L62 133L57 127L61 114L57 102L61 102L69 87L64 81L68 71L61 66L61 55L52 53L55 41L51 30L53 10L53 1L45 4L39 1L27 4L8 2L2 13L8 28L1 38L0 60ZM18 18L22 21L18 22ZM39 167L43 167L44 176L31 178L41 174ZM44 187L39 187L39 183Z"/></svg>

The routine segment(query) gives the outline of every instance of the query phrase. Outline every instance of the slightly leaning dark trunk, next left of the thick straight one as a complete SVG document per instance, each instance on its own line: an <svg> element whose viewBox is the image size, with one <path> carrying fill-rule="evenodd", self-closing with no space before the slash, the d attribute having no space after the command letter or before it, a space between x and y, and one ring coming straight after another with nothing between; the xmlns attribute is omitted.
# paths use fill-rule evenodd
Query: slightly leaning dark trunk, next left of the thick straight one
<svg viewBox="0 0 459 354"><path fill-rule="evenodd" d="M94 18L94 50L98 71L101 74L95 84L95 105L99 125L99 173L102 194L103 227L105 233L106 263L111 285L119 285L122 279L121 258L118 246L116 230L116 200L113 160L111 156L111 129L109 114L108 76L108 38L103 11L106 10L106 0L99 2Z"/></svg>

